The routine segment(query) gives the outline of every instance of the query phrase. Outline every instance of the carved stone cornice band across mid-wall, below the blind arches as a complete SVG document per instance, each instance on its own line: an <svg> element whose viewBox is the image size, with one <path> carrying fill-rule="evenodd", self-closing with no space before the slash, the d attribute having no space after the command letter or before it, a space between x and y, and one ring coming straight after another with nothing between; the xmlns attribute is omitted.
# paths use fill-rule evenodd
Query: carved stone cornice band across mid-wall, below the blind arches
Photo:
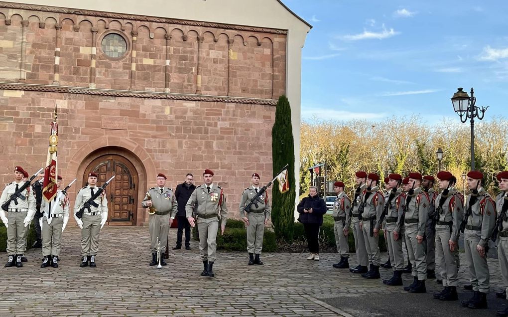
<svg viewBox="0 0 508 317"><path fill-rule="evenodd" d="M113 97L224 102L224 103L234 103L234 104L266 105L266 106L275 106L277 104L277 100L275 100L275 99L242 98L242 97L226 97L226 96L206 96L203 94L196 95L196 94L169 93L169 92L92 89L92 88L84 88L84 87L35 85L35 84L6 83L6 82L0 82L0 89L74 93L74 94L90 94L90 95L96 95L96 96L113 96Z"/></svg>

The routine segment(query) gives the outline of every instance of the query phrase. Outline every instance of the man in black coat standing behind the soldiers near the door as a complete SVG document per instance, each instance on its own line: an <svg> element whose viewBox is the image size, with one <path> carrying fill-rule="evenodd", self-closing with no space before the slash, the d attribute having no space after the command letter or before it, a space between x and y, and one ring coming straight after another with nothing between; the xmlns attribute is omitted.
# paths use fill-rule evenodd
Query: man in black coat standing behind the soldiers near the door
<svg viewBox="0 0 508 317"><path fill-rule="evenodd" d="M175 189L175 197L178 202L178 212L176 213L178 221L178 233L176 238L176 246L173 250L182 248L182 235L185 228L185 249L190 250L190 225L185 216L185 205L190 198L190 194L194 192L196 186L193 184L193 175L188 173L183 183L178 184Z"/></svg>

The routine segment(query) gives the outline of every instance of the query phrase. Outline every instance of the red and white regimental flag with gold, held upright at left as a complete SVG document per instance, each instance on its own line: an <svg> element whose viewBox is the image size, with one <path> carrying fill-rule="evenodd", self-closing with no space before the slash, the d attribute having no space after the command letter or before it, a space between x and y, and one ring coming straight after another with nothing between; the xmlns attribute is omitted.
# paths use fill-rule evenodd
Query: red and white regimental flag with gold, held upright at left
<svg viewBox="0 0 508 317"><path fill-rule="evenodd" d="M42 197L49 202L56 196L56 179L58 176L58 164L56 160L56 147L58 145L58 123L56 122L56 105L55 118L51 122L51 130L49 134L48 157L46 159L46 168L44 169L44 182L42 184Z"/></svg>

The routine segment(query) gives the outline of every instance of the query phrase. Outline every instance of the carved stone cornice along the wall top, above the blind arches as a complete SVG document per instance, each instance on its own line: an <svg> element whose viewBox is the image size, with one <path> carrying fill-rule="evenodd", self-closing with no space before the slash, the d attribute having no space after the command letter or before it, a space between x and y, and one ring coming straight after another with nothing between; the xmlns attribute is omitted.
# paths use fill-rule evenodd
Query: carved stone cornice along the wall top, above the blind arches
<svg viewBox="0 0 508 317"><path fill-rule="evenodd" d="M78 10L78 9L70 9L70 8L26 5L26 4L17 4L17 3L7 3L7 2L0 2L0 8L53 12L53 13L59 13L59 14L96 16L96 17L111 18L111 19L124 19L124 20L135 20L135 21L145 21L145 22L158 22L158 23L180 24L180 25L190 25L190 26L224 28L224 29L233 29L233 30L238 30L238 31L250 31L250 32L271 33L271 34L288 34L288 30L268 28L268 27L233 25L233 24L202 22L202 21L189 21L189 20L179 20L179 19L170 19L170 18L153 17L153 16L142 16L142 15L134 15L134 14L101 12L101 11L93 11L93 10Z"/></svg>

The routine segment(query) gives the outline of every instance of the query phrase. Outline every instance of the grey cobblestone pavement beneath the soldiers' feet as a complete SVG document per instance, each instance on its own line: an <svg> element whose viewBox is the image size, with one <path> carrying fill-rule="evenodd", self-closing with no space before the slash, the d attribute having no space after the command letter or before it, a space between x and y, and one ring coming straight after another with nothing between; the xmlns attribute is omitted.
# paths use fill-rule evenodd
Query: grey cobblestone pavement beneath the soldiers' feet
<svg viewBox="0 0 508 317"><path fill-rule="evenodd" d="M171 229L170 248L175 240L176 229ZM427 294L409 296L400 287L332 268L336 253L321 254L319 262L306 261L303 253L264 253L264 266L247 266L246 252L219 250L216 276L202 277L196 241L190 251L170 249L168 266L162 269L148 266L148 245L146 227L105 227L98 267L80 268L80 230L68 228L57 269L40 268L41 249L27 251L29 262L23 268L4 268L7 255L1 253L0 316L380 316L392 313L377 309L374 299L383 307L404 302L411 310L423 299L437 303L431 300L432 292L441 290L430 280ZM354 255L351 262L355 263ZM489 266L493 293L502 281L497 260L489 259ZM391 270L382 275L389 277ZM467 276L462 267L462 284ZM408 274L404 278L406 284L412 281ZM504 304L491 297L498 308ZM366 302L369 298L372 305ZM447 305L465 315L471 311L458 302ZM402 312L400 306L394 310Z"/></svg>

